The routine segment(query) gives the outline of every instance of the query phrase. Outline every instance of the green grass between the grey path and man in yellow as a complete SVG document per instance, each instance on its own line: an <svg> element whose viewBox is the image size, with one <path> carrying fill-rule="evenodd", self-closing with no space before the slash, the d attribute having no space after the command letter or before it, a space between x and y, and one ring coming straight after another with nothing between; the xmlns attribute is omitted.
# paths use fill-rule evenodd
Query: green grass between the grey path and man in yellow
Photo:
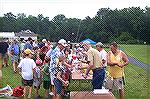
<svg viewBox="0 0 150 99"><path fill-rule="evenodd" d="M129 64L125 68L125 99L149 99L149 74L144 69Z"/></svg>

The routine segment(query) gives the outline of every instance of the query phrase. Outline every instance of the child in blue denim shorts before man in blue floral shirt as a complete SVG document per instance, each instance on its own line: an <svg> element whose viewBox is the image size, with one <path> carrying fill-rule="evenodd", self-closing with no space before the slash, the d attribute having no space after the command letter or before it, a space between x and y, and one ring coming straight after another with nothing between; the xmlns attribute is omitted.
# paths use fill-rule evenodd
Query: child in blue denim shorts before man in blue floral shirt
<svg viewBox="0 0 150 99"><path fill-rule="evenodd" d="M54 86L56 90L56 99L61 99L62 95L62 90L63 90L63 85L68 86L69 82L63 80L62 74L63 74L63 60L64 57L60 56L58 61L57 61L57 67L55 68L55 79L54 79Z"/></svg>

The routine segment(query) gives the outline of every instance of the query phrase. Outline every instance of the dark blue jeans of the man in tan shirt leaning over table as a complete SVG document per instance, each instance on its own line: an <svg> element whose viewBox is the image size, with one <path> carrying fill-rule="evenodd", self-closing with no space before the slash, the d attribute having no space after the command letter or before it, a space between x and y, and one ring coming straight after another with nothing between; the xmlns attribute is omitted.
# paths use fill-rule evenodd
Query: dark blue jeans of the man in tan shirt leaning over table
<svg viewBox="0 0 150 99"><path fill-rule="evenodd" d="M94 89L102 89L102 85L105 78L105 69L95 69L93 70L92 85Z"/></svg>

